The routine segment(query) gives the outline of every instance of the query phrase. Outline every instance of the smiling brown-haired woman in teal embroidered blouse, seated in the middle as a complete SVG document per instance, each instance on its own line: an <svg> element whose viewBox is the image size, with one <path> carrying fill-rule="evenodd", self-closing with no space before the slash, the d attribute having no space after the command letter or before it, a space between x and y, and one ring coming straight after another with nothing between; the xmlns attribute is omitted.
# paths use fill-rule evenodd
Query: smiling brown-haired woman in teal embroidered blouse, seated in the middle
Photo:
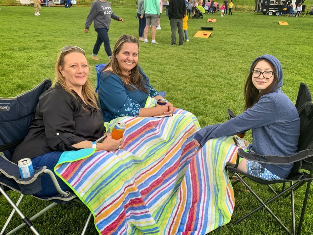
<svg viewBox="0 0 313 235"><path fill-rule="evenodd" d="M139 42L136 37L122 35L116 42L112 58L101 73L99 98L103 120L110 122L124 116L152 117L173 113L173 105L145 108L148 96L163 98L152 88L138 65Z"/></svg>

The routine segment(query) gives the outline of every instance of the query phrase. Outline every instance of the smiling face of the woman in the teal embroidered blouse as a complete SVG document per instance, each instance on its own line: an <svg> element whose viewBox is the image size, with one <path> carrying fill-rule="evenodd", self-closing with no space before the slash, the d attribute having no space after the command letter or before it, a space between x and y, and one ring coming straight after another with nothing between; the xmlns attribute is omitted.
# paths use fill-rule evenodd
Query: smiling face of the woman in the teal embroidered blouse
<svg viewBox="0 0 313 235"><path fill-rule="evenodd" d="M138 45L136 43L126 42L123 44L121 50L116 55L117 62L126 76L138 63Z"/></svg>

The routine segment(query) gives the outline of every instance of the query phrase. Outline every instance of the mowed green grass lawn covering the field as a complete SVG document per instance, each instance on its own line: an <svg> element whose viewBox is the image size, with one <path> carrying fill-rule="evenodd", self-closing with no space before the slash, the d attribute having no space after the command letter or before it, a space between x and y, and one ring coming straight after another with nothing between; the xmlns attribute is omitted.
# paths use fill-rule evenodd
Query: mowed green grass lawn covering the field
<svg viewBox="0 0 313 235"><path fill-rule="evenodd" d="M35 17L33 7L1 6L0 10L0 97L13 97L31 89L46 77L54 78L54 65L60 49L77 45L86 50L90 64L90 80L96 83L95 65L91 52L96 39L93 26L84 33L89 7L43 7L41 16ZM138 36L138 19L133 8L114 7L114 12L124 18L124 23L112 20L109 36L113 50L115 41L122 34ZM207 18L216 18L208 23ZM278 20L287 21L281 26ZM201 26L214 27L208 39L194 38ZM175 107L194 113L201 126L227 120L226 108L236 114L244 105L243 87L252 61L259 55L272 54L281 62L284 72L282 90L295 102L301 81L313 91L312 77L312 17L269 17L263 14L233 11L233 16L221 17L220 13L204 19L188 20L190 42L183 46L168 46L171 29L165 13L161 16L161 30L156 32L158 45L140 42L139 64L150 78L152 86L166 91L166 98ZM151 33L148 36L151 40ZM178 35L177 35L178 40ZM108 59L101 47L100 63ZM292 134L292 133L290 133ZM251 135L247 135L251 141ZM253 188L266 200L270 191L263 186ZM275 189L279 189L277 185ZM232 221L259 206L243 185L235 185L235 210ZM310 191L312 194L312 190ZM18 195L10 192L14 200ZM304 189L295 192L296 222L299 221ZM312 195L309 197L302 234L312 234ZM22 209L27 216L38 212L46 203L25 198ZM274 213L291 229L289 198L269 205ZM276 209L275 209L276 208ZM0 197L0 223L3 225L11 207ZM34 221L41 234L80 234L88 209L79 203L58 205L42 218ZM13 225L18 225L15 216ZM10 228L13 228L11 225ZM27 228L16 234L31 234ZM87 234L97 234L90 224ZM257 212L243 222L232 222L212 234L285 234L265 210Z"/></svg>

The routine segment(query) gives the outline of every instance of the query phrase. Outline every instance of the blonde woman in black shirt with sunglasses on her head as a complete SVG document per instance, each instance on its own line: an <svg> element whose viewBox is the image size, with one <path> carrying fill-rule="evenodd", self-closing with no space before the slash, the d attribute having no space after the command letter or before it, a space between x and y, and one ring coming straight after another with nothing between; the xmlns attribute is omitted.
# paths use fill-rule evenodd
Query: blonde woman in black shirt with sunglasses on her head
<svg viewBox="0 0 313 235"><path fill-rule="evenodd" d="M103 143L95 143L105 128L88 75L85 51L76 46L62 48L55 66L54 87L39 97L32 125L24 141L14 151L13 162L30 158L34 170L45 165L53 171L64 151L120 149L124 137L115 140L110 133ZM58 181L64 191L70 191L62 180ZM43 175L42 182L42 191L36 196L58 194L49 177Z"/></svg>

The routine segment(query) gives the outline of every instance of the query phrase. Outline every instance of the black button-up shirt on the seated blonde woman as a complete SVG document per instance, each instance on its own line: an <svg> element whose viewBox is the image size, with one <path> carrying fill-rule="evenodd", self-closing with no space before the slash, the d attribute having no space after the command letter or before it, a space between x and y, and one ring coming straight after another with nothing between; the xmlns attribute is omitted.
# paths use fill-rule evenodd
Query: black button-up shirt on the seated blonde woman
<svg viewBox="0 0 313 235"><path fill-rule="evenodd" d="M71 145L84 140L95 141L103 135L101 110L86 105L73 92L78 100L56 84L39 97L32 125L24 141L15 149L13 162L51 151L77 150Z"/></svg>

